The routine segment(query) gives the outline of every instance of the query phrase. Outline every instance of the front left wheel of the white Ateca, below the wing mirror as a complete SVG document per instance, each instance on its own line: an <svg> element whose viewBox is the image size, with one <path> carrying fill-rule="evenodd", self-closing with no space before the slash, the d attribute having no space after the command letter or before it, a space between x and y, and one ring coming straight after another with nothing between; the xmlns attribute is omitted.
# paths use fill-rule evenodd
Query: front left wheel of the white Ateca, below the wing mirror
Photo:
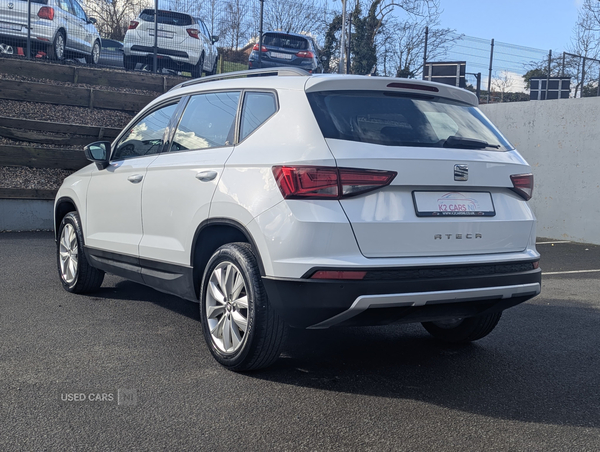
<svg viewBox="0 0 600 452"><path fill-rule="evenodd" d="M64 216L58 228L56 261L58 275L66 291L94 292L104 280L104 272L92 267L83 252L83 232L77 212Z"/></svg>

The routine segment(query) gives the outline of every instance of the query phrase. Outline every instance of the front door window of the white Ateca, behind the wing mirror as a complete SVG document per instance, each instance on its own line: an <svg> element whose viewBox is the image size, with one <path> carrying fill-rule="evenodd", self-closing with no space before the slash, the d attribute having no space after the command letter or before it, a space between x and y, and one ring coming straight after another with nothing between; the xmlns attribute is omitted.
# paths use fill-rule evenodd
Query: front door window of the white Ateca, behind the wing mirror
<svg viewBox="0 0 600 452"><path fill-rule="evenodd" d="M177 104L154 110L134 125L117 143L112 160L123 160L160 152L164 143L165 129Z"/></svg>

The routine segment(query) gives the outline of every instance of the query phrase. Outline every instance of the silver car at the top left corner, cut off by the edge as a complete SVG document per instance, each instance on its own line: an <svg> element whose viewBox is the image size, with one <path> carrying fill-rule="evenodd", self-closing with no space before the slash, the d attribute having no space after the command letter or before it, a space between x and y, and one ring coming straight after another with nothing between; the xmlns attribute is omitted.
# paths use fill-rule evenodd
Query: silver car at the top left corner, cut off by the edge
<svg viewBox="0 0 600 452"><path fill-rule="evenodd" d="M31 0L31 48L53 60L65 56L97 64L101 40L94 24L76 0ZM0 44L5 53L27 46L27 1L0 0Z"/></svg>

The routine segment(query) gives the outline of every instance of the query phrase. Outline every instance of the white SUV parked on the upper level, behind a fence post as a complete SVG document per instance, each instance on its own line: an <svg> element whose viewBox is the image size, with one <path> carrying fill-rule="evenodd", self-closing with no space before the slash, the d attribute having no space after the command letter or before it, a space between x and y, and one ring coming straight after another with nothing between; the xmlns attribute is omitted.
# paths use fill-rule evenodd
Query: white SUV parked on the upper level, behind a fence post
<svg viewBox="0 0 600 452"><path fill-rule="evenodd" d="M154 60L154 9L145 9L129 23L123 42L123 66L135 69L137 63ZM198 17L175 11L158 10L156 15L157 62L159 68L190 71L193 77L216 74L219 59L215 42Z"/></svg>

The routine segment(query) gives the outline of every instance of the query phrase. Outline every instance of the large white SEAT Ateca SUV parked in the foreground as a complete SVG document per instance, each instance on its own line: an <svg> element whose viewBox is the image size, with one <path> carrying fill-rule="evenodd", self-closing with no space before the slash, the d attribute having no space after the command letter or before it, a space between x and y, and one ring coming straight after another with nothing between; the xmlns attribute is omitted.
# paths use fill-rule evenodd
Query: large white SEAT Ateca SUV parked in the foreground
<svg viewBox="0 0 600 452"><path fill-rule="evenodd" d="M271 364L288 326L421 322L474 341L540 292L530 167L462 89L207 77L85 152L95 164L55 203L65 289L110 272L199 301L232 370Z"/></svg>

